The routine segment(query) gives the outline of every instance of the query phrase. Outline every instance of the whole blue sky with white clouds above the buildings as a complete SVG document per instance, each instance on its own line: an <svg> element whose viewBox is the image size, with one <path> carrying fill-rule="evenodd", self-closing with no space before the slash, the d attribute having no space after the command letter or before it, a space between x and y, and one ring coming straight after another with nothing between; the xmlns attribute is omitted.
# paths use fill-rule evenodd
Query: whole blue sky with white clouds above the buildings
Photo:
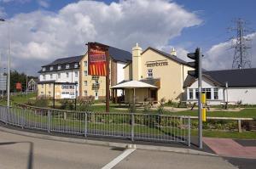
<svg viewBox="0 0 256 169"><path fill-rule="evenodd" d="M232 68L235 20L246 20L247 45L256 67L254 0L0 0L1 70L37 75L54 59L84 54L86 42L102 42L131 51L138 42L189 61L201 48L207 70ZM10 36L9 36L10 35ZM10 37L10 38L9 38Z"/></svg>

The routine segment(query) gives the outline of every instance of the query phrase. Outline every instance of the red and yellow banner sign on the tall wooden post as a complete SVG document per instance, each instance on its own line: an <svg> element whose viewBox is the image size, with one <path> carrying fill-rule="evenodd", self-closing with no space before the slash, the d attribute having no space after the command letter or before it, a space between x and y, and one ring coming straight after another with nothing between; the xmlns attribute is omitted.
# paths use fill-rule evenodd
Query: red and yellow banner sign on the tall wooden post
<svg viewBox="0 0 256 169"><path fill-rule="evenodd" d="M91 76L107 76L108 47L90 42L88 43L88 74Z"/></svg>

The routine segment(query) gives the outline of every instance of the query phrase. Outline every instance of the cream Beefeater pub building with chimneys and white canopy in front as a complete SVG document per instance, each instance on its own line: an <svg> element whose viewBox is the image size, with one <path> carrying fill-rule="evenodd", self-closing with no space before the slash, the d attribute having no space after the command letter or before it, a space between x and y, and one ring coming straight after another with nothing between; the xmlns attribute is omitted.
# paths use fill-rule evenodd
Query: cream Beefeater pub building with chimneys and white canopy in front
<svg viewBox="0 0 256 169"><path fill-rule="evenodd" d="M126 104L158 103L163 98L178 102L186 99L183 82L188 70L193 68L176 56L174 48L166 54L151 47L143 51L137 44L132 48L132 60L124 67L125 80L111 89L123 90Z"/></svg>

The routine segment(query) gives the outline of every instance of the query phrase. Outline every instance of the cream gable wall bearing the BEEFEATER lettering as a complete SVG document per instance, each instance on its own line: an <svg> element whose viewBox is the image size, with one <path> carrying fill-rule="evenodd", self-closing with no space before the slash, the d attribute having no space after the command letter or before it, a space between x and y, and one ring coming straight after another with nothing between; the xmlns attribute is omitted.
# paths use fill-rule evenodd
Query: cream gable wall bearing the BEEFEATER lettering
<svg viewBox="0 0 256 169"><path fill-rule="evenodd" d="M147 67L147 63L156 60L167 62L168 65ZM185 73L185 70L189 69L187 66L183 69L182 64L148 49L142 54L141 67L143 79L148 77L148 69L153 70L154 78L160 78L158 100L165 98L177 102L183 98L183 79L187 76L187 73Z"/></svg>

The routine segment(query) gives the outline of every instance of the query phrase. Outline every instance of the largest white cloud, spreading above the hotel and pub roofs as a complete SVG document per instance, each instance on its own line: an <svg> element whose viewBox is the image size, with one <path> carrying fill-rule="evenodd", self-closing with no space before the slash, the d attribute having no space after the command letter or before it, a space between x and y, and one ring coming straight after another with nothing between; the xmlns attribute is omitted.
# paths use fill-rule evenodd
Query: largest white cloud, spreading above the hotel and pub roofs
<svg viewBox="0 0 256 169"><path fill-rule="evenodd" d="M143 48L162 47L183 28L201 24L195 14L169 0L79 1L56 14L39 10L10 20L14 68L30 73L58 57L84 54L86 42L129 51L136 42ZM0 39L6 39L5 26L0 25L0 32ZM6 41L0 42L2 48Z"/></svg>

